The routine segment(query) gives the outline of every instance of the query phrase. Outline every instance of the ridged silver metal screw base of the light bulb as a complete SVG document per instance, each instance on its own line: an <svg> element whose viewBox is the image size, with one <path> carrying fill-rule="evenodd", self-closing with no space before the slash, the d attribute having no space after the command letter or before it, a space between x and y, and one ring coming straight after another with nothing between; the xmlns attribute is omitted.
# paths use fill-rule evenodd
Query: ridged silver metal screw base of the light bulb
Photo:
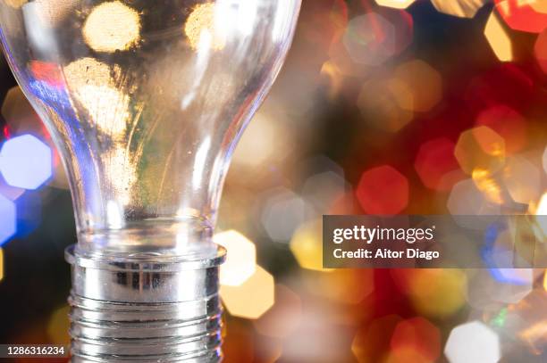
<svg viewBox="0 0 547 363"><path fill-rule="evenodd" d="M90 258L74 246L72 362L215 362L222 359L219 267L198 260Z"/></svg>

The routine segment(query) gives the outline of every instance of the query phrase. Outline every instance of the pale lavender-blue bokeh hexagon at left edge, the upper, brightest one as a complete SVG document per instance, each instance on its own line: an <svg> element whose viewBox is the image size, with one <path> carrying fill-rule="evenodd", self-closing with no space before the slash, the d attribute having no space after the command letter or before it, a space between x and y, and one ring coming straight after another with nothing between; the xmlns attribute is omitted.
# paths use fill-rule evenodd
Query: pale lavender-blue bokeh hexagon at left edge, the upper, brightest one
<svg viewBox="0 0 547 363"><path fill-rule="evenodd" d="M0 150L0 172L10 186L34 190L52 176L52 152L32 135L7 140Z"/></svg>

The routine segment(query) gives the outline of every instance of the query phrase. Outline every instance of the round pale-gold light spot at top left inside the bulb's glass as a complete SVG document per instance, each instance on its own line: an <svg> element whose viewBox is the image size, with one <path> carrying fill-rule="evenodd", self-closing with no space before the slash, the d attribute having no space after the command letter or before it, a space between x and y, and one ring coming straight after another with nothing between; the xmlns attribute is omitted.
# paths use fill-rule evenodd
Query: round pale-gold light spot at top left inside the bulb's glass
<svg viewBox="0 0 547 363"><path fill-rule="evenodd" d="M127 50L139 42L139 13L119 1L99 4L86 19L83 36L97 52Z"/></svg>

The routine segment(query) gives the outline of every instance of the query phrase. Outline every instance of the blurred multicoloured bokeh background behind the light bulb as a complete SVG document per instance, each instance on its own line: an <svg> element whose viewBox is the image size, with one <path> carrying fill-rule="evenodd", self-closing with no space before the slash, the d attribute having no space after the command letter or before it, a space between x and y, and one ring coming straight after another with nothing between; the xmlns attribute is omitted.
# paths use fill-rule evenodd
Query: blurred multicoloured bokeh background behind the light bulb
<svg viewBox="0 0 547 363"><path fill-rule="evenodd" d="M542 269L321 264L324 214L547 214L546 28L544 0L304 0L223 194L226 362L547 361ZM71 195L4 60L0 100L0 342L67 344Z"/></svg>

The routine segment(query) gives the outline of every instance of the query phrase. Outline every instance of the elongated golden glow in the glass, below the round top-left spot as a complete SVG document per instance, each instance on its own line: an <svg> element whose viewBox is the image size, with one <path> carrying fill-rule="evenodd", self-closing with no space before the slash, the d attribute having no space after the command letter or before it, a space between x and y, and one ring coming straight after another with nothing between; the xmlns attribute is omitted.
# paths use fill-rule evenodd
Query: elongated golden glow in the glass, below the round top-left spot
<svg viewBox="0 0 547 363"><path fill-rule="evenodd" d="M63 72L73 94L97 128L111 136L126 130L130 97L115 87L118 68L93 58L81 58L64 67Z"/></svg>

